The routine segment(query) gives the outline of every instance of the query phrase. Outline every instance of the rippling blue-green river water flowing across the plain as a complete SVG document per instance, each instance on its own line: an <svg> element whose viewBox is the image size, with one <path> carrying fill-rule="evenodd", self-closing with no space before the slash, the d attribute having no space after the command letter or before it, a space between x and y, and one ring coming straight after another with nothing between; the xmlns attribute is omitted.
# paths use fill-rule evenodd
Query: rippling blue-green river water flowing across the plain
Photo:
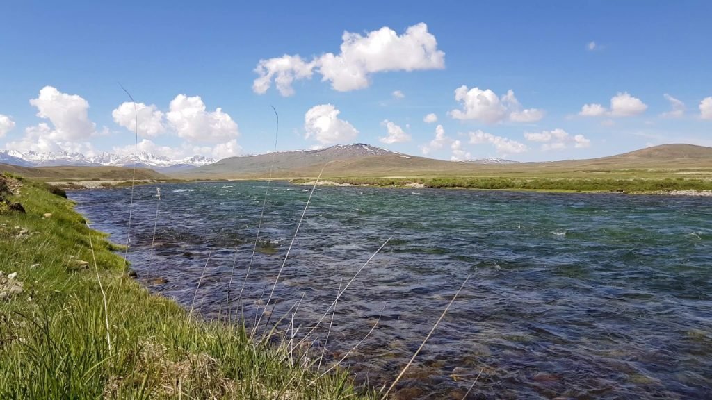
<svg viewBox="0 0 712 400"><path fill-rule="evenodd" d="M195 309L217 317L234 270L230 309L241 304L253 325L311 188L159 187L160 201L154 186L135 188L129 259L138 279L189 308L205 267ZM130 189L70 198L125 243ZM340 298L328 340L330 315L310 338L330 365L380 317L343 362L357 381L391 382L470 275L400 397L462 399L481 373L468 398L710 399L711 206L685 196L320 187L263 323L286 315L300 337L392 237Z"/></svg>

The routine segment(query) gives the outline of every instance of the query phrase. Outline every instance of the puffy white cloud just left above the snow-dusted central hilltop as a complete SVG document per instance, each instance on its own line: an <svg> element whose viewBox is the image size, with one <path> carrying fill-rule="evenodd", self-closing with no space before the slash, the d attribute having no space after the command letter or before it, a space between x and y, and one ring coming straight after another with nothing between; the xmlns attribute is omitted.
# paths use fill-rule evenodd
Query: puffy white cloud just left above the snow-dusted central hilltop
<svg viewBox="0 0 712 400"><path fill-rule="evenodd" d="M333 105L311 107L304 115L305 138L313 138L320 144L346 142L358 136L358 130L348 121L339 119L340 111Z"/></svg>

